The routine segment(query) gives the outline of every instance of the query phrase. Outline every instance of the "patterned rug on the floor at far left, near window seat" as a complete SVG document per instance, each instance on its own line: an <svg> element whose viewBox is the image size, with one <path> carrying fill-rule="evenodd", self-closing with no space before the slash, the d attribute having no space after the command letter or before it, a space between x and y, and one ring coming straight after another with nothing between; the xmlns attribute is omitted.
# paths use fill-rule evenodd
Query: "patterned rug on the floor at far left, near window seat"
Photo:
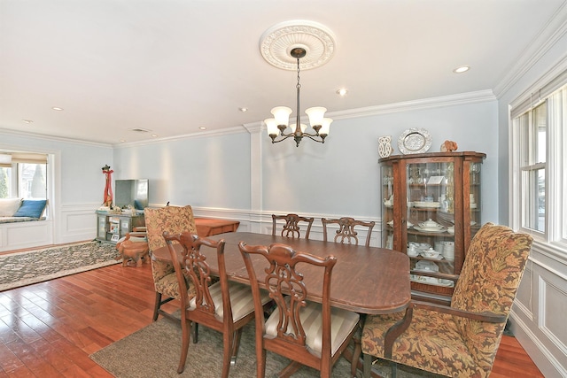
<svg viewBox="0 0 567 378"><path fill-rule="evenodd" d="M116 246L87 242L0 256L0 291L118 264Z"/></svg>

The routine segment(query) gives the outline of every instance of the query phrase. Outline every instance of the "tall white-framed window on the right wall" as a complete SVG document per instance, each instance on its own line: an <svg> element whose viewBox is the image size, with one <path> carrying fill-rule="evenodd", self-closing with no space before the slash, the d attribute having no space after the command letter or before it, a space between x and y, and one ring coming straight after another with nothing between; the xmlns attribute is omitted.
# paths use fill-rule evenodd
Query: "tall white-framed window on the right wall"
<svg viewBox="0 0 567 378"><path fill-rule="evenodd" d="M564 76L564 74L563 74ZM557 87L555 82L555 88ZM567 247L567 85L528 109L512 109L514 223L543 243ZM526 102L524 101L524 107ZM521 108L522 106L518 106Z"/></svg>

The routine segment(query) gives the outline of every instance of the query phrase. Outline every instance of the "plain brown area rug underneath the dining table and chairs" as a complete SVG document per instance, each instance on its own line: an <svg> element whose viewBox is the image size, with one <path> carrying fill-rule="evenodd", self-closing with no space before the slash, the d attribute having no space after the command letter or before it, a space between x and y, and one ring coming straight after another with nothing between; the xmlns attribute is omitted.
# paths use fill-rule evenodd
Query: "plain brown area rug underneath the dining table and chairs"
<svg viewBox="0 0 567 378"><path fill-rule="evenodd" d="M191 341L189 354L183 374L177 374L181 352L181 326L171 320L158 320L130 336L112 343L104 349L90 355L90 359L104 367L117 378L180 377L214 378L222 371L222 336L209 328L198 328L198 343ZM266 357L266 377L272 377L289 364L288 359L268 352ZM350 362L338 359L333 367L333 378L350 377ZM390 367L385 363L375 364L374 369L389 377ZM362 376L358 372L358 376ZM256 376L256 357L254 350L254 326L245 326L237 363L230 367L230 378L250 378ZM293 377L319 377L319 372L303 366ZM400 366L398 377L415 378L425 373Z"/></svg>

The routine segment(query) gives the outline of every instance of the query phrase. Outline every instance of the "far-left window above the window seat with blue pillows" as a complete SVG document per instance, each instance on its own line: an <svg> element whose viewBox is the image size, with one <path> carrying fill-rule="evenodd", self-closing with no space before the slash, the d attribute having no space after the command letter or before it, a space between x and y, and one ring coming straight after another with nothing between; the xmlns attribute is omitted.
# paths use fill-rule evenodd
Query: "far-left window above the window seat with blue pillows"
<svg viewBox="0 0 567 378"><path fill-rule="evenodd" d="M47 155L0 152L0 198L47 198Z"/></svg>

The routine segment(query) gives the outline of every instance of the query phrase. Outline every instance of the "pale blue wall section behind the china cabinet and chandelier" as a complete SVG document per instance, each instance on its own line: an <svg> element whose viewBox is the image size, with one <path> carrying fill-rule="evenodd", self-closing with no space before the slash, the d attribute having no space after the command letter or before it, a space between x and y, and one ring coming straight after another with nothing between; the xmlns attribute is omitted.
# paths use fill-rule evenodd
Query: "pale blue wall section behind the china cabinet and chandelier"
<svg viewBox="0 0 567 378"><path fill-rule="evenodd" d="M458 143L458 150L486 153L483 217L497 221L496 122L494 99L336 120L324 144L304 140L299 148L292 141L271 144L262 135L262 210L379 217L378 137L392 135L399 154L398 137L419 127L431 135L430 152L448 139Z"/></svg>

